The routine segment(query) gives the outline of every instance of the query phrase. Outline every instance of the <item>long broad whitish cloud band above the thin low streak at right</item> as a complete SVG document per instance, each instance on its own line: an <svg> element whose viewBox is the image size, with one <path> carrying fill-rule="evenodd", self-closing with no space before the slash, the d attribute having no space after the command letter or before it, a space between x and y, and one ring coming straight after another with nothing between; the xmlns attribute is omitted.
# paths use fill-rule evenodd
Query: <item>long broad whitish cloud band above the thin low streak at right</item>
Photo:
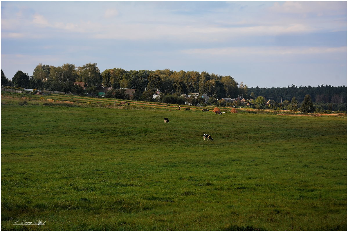
<svg viewBox="0 0 348 232"><path fill-rule="evenodd" d="M316 32L319 29L304 24L260 25L224 27L216 25L171 25L171 24L141 24L124 23L98 26L100 30L92 35L96 39L165 39L167 41L185 40L187 42L226 42L230 38L242 36L265 36L302 32ZM112 28L112 30L108 30Z"/></svg>

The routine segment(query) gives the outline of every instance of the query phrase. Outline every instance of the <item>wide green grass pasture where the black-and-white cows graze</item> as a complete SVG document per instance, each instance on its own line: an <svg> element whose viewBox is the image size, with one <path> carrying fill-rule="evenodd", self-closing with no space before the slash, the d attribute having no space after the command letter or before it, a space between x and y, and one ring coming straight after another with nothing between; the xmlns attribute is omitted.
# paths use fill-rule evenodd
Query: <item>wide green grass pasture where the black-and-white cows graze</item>
<svg viewBox="0 0 348 232"><path fill-rule="evenodd" d="M1 230L347 230L347 115L2 94Z"/></svg>

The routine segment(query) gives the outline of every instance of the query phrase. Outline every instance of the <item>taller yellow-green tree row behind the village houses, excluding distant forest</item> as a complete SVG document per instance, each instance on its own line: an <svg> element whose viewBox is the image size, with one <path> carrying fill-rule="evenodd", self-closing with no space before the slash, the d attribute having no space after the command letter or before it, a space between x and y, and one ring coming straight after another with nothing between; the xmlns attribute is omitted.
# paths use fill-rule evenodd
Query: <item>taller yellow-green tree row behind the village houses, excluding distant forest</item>
<svg viewBox="0 0 348 232"><path fill-rule="evenodd" d="M3 78L5 77L5 78ZM219 76L214 73L196 71L164 70L130 70L122 68L106 69L100 73L97 64L88 63L82 67L73 64L63 64L55 67L39 64L34 68L33 75L18 71L8 80L1 74L2 85L14 84L23 88L49 89L68 92L72 90L73 82L83 81L91 86L112 86L115 89L132 88L138 92L156 92L166 94L206 93L214 98L237 97L247 95L247 86L237 83L231 76Z"/></svg>

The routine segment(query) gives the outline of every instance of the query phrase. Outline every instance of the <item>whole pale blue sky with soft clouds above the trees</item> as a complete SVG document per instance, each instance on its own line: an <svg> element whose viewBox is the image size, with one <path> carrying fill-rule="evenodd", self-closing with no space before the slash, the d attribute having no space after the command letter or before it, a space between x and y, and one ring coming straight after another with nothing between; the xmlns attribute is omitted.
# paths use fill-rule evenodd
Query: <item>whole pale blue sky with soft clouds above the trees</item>
<svg viewBox="0 0 348 232"><path fill-rule="evenodd" d="M347 86L346 1L2 1L1 69L97 63Z"/></svg>

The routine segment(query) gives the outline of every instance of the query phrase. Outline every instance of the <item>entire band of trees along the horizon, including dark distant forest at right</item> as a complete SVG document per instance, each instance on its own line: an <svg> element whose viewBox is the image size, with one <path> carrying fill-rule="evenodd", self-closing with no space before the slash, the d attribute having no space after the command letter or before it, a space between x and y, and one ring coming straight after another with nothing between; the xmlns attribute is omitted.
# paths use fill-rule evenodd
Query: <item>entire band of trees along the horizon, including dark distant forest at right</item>
<svg viewBox="0 0 348 232"><path fill-rule="evenodd" d="M130 70L122 68L106 69L100 72L96 63L87 63L81 67L73 64L52 66L38 64L33 75L18 71L12 80L8 79L1 70L1 85L9 85L27 89L52 90L63 92L75 92L83 94L80 86L74 85L76 81L87 83L88 88L93 86L112 86L115 89L137 89L134 100L152 101L152 94L157 90L162 92L164 99L167 95L179 97L181 94L200 93L207 94L212 100L212 105L218 105L221 98L256 99L262 96L266 101L270 100L270 107L279 108L290 104L293 97L301 103L309 94L316 107L321 110L347 110L347 87L324 85L295 86L278 88L248 88L243 82L237 82L232 76L220 76L214 73L197 71L171 71L163 70ZM251 83L252 84L252 83ZM118 95L127 98L127 96ZM168 98L168 97L167 97ZM284 102L284 103L283 103ZM331 108L329 108L331 107Z"/></svg>

